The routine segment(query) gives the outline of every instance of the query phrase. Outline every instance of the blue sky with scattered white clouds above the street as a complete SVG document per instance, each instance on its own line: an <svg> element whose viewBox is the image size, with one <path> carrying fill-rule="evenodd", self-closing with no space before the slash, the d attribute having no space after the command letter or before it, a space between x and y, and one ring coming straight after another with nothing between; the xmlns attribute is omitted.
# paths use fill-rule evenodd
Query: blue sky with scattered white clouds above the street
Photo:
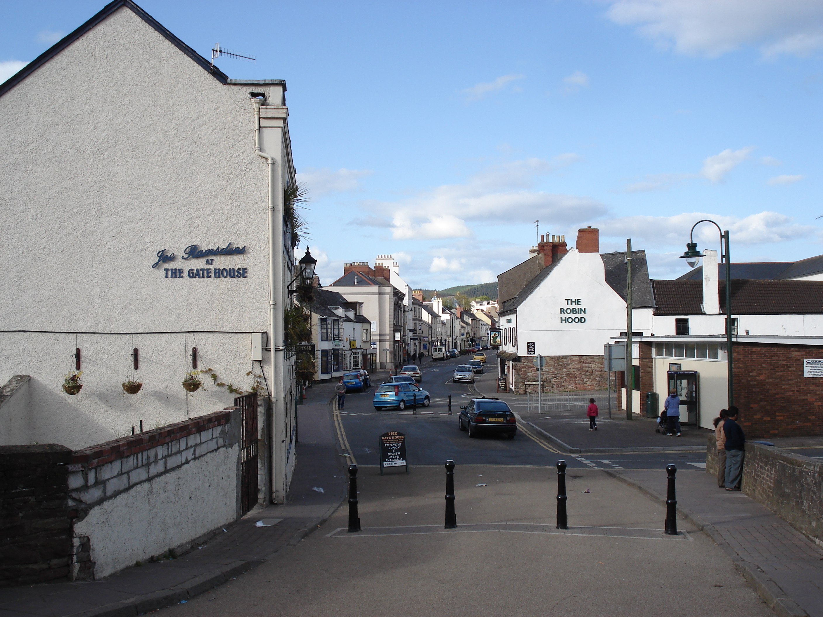
<svg viewBox="0 0 823 617"><path fill-rule="evenodd" d="M494 281L534 220L631 238L658 278L700 218L732 261L823 253L821 0L138 4L286 79L323 283L383 253L412 286ZM3 2L0 80L103 6Z"/></svg>

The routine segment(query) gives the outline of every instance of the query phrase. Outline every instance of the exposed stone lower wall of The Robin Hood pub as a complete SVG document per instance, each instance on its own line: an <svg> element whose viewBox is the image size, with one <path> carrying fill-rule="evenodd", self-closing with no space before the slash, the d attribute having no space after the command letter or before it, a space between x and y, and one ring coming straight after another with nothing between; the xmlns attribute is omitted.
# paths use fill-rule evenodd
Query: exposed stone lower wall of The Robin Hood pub
<svg viewBox="0 0 823 617"><path fill-rule="evenodd" d="M510 364L514 377L514 393L537 392L535 356L521 356L521 362ZM605 390L606 373L602 355L544 355L542 370L543 392Z"/></svg>

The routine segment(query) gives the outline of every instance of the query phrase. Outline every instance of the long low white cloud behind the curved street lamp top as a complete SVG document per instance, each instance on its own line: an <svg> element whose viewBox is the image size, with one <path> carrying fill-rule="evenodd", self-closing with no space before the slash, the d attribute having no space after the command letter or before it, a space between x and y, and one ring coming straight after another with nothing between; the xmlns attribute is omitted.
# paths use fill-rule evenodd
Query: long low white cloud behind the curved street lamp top
<svg viewBox="0 0 823 617"><path fill-rule="evenodd" d="M623 216L598 220L597 227L601 236L640 239L644 244L653 246L681 244L685 247L691 226L701 219L714 220L723 230L729 230L732 244L785 242L809 237L817 230L813 225L797 225L791 217L770 211L744 218L705 212L684 212L674 216ZM707 248L706 244L711 248L718 243L718 239L719 232L710 223L699 225L695 230L695 240L703 248Z"/></svg>

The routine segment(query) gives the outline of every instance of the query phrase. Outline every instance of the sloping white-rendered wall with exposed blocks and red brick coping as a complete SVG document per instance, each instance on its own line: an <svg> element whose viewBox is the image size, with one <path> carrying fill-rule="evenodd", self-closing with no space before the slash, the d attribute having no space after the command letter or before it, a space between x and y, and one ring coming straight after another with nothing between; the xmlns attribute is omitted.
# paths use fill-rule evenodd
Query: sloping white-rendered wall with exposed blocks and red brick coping
<svg viewBox="0 0 823 617"><path fill-rule="evenodd" d="M238 414L229 407L74 452L72 578L184 550L239 517Z"/></svg>

